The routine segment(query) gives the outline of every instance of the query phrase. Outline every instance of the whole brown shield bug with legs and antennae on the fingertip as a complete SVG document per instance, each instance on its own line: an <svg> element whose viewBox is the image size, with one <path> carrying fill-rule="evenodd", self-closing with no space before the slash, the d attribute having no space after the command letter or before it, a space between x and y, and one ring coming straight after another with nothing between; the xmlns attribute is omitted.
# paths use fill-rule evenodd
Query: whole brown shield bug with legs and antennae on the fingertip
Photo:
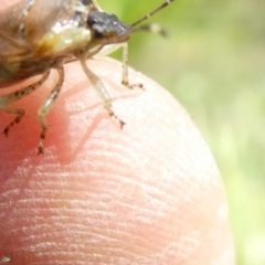
<svg viewBox="0 0 265 265"><path fill-rule="evenodd" d="M15 115L4 129L10 129L24 116L22 108L8 105L38 89L49 77L52 68L59 80L49 97L38 110L41 125L38 153L43 153L47 131L45 116L57 98L64 82L63 65L80 61L83 71L103 100L104 107L123 127L112 109L112 100L100 80L87 67L86 61L95 55L108 54L123 47L123 81L128 82L127 41L134 32L149 30L161 32L153 25L138 26L173 0L165 1L159 8L132 24L121 22L116 15L104 12L96 0L23 0L0 12L0 87L9 86L35 75L41 78L15 92L0 97L0 109ZM138 28L137 28L138 26Z"/></svg>

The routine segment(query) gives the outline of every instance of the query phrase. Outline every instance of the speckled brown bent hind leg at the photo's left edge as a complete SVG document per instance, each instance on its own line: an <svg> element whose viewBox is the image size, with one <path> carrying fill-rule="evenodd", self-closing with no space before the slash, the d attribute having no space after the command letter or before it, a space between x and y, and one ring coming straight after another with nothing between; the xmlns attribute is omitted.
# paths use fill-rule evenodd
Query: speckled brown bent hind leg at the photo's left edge
<svg viewBox="0 0 265 265"><path fill-rule="evenodd" d="M17 115L15 119L12 123L10 123L4 128L4 130L2 131L7 137L8 137L10 128L13 127L14 124L19 124L19 121L23 118L24 109L22 109L22 108L9 108L9 107L6 107L6 106L11 104L11 103L13 103L13 102L19 100L22 97L28 96L29 94L31 94L32 92L38 89L46 81L49 74L50 74L50 71L45 72L42 75L41 80L39 80L38 82L35 82L35 83L33 83L31 85L28 85L28 86L25 86L25 87L23 87L23 88L21 88L19 91L9 93L9 94L3 95L3 96L0 97L0 110L2 110L4 113L15 114Z"/></svg>

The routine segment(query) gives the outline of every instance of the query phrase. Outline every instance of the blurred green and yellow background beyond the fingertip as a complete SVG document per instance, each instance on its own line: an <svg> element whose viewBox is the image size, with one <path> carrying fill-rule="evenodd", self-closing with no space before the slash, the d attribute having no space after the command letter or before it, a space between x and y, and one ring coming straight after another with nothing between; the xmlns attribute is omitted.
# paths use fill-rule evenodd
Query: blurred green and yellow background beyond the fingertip
<svg viewBox="0 0 265 265"><path fill-rule="evenodd" d="M99 0L131 23L163 0ZM190 113L221 170L237 265L265 264L265 1L176 0L138 33L129 64L167 87ZM115 55L120 57L119 55Z"/></svg>

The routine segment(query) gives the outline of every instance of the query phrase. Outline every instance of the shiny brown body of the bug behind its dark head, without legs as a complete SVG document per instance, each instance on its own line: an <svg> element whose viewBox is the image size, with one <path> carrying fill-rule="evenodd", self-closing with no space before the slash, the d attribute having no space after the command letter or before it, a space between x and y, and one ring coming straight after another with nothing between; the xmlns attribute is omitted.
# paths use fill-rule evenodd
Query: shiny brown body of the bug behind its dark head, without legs
<svg viewBox="0 0 265 265"><path fill-rule="evenodd" d="M74 59L87 43L93 49L86 20L100 10L95 0L35 0L31 8L29 2L0 12L0 87Z"/></svg>

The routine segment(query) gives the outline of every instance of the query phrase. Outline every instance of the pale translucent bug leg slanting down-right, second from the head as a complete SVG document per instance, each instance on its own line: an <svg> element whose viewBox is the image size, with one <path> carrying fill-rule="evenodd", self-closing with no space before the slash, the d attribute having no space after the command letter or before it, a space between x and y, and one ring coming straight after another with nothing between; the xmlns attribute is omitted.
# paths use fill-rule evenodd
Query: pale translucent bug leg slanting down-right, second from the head
<svg viewBox="0 0 265 265"><path fill-rule="evenodd" d="M117 120L120 125L120 127L123 128L123 126L125 125L125 123L119 119L115 113L113 112L113 106L112 106L112 99L104 86L104 84L102 83L102 81L98 78L98 76L96 74L94 74L86 65L86 62L84 60L81 60L81 65L87 76L87 78L91 81L93 87L95 88L98 97L103 100L104 103L104 107L107 110L108 115L110 117L113 117L115 120Z"/></svg>

